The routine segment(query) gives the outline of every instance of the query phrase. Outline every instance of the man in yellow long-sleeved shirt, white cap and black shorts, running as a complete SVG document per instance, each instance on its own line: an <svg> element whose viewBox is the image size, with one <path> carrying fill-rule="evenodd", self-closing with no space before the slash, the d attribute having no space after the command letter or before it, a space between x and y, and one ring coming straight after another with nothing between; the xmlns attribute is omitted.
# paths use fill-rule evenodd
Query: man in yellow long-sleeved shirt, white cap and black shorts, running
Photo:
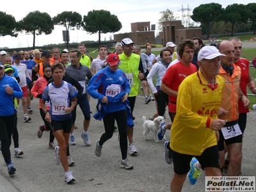
<svg viewBox="0 0 256 192"><path fill-rule="evenodd" d="M218 76L220 56L223 54L216 47L202 48L198 53L200 69L179 86L170 141L175 172L172 192L181 191L186 177L195 184L202 168L207 176L221 176L216 135L225 125L217 116L225 82Z"/></svg>

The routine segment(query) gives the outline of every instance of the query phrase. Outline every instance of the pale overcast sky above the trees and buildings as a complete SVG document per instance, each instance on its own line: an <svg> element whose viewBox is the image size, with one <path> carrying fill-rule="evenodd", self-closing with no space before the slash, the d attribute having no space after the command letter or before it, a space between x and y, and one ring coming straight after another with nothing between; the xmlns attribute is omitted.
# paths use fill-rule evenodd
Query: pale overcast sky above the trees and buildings
<svg viewBox="0 0 256 192"><path fill-rule="evenodd" d="M231 1L230 1L231 2ZM212 3L212 1L166 1L166 0L142 0L142 1L102 1L102 0L86 0L86 1L70 1L70 0L61 0L61 1L50 1L50 0L34 0L34 1L17 1L13 0L10 4L2 4L0 7L1 12L6 12L7 14L13 15L16 21L19 21L26 17L29 12L34 12L36 10L40 12L47 12L51 17L58 15L58 13L65 11L72 11L87 15L91 10L108 10L111 14L114 14L118 17L122 23L122 29L117 33L125 33L131 31L132 22L146 22L150 21L150 24L157 24L157 20L161 17L159 12L163 12L166 9L172 10L175 15L179 15L179 10L183 8L189 8L193 10L195 7L200 4ZM241 1L234 0L232 3L228 1L216 0L214 3L219 3L225 8L228 4L232 3L241 3ZM243 4L253 3L253 1L244 0ZM157 28L157 25L156 25ZM54 26L54 30L51 35L38 35L36 36L36 46L42 46L46 44L58 44L63 43L62 30L65 30L65 27ZM157 32L157 31L156 31ZM102 34L101 40L109 40L111 34ZM70 43L72 42L81 42L84 40L98 40L98 34L89 35L86 31L75 30L70 31ZM25 33L19 34L17 38L11 36L1 36L0 37L0 47L31 47L33 45L33 35L26 35Z"/></svg>

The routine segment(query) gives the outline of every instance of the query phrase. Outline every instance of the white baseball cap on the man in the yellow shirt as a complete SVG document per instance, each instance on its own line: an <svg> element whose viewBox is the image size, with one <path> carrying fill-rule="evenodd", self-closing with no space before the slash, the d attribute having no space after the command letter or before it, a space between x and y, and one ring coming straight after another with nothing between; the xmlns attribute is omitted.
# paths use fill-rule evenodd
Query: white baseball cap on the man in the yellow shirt
<svg viewBox="0 0 256 192"><path fill-rule="evenodd" d="M216 58L218 56L225 56L225 54L221 54L220 51L214 46L204 46L198 52L197 59L198 59L198 61L201 61L201 60L204 60L204 59L211 60L211 59Z"/></svg>

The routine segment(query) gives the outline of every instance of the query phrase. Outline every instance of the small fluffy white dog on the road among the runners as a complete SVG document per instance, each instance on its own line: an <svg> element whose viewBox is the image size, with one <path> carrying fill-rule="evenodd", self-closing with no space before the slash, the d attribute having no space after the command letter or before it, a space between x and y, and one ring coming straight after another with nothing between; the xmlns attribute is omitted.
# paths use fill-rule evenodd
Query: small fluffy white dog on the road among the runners
<svg viewBox="0 0 256 192"><path fill-rule="evenodd" d="M142 117L144 124L143 124L143 134L145 136L145 140L148 140L148 133L150 131L152 131L154 133L154 138L156 143L159 142L158 137L157 137L157 131L159 129L159 125L161 125L162 123L165 123L164 121L164 117L163 116L157 116L156 118L154 118L154 121L152 120L147 120L145 116ZM164 135L164 140L166 140L165 135Z"/></svg>

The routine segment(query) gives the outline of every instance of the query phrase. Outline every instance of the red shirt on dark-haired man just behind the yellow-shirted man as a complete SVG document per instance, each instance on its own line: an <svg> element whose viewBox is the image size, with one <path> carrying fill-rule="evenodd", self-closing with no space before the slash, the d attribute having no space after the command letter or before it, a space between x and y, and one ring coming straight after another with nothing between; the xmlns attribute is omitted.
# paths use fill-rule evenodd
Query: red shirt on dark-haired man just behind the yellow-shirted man
<svg viewBox="0 0 256 192"><path fill-rule="evenodd" d="M190 66L187 67L182 64L181 61L172 65L168 68L162 82L168 85L168 88L178 91L180 83L189 75L197 72L197 68L193 63L190 63ZM169 104L168 104L168 111L171 113L176 113L176 102L177 97L169 95Z"/></svg>

